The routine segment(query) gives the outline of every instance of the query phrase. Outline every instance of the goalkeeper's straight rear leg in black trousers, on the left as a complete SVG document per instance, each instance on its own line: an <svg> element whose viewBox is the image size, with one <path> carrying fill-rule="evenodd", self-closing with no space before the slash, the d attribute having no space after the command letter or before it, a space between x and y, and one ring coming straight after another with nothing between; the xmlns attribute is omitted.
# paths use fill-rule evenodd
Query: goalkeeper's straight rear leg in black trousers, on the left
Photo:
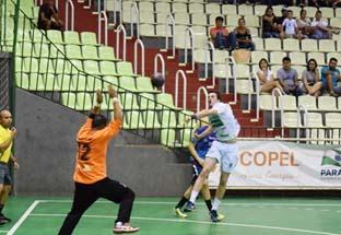
<svg viewBox="0 0 341 235"><path fill-rule="evenodd" d="M59 235L72 234L82 214L97 200L98 196L93 190L93 185L84 185L75 183L73 203L71 211L68 213Z"/></svg>

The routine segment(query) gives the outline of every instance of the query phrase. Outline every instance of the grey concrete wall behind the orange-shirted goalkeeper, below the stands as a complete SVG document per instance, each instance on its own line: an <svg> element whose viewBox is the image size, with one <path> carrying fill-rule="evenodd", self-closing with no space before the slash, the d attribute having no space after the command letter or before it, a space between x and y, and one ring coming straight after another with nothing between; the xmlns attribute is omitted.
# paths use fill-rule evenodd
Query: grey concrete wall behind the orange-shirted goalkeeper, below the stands
<svg viewBox="0 0 341 235"><path fill-rule="evenodd" d="M21 165L14 175L15 193L71 195L75 134L86 117L22 90L16 90L15 113ZM180 196L191 167L169 149L121 131L110 141L107 173L138 196Z"/></svg>

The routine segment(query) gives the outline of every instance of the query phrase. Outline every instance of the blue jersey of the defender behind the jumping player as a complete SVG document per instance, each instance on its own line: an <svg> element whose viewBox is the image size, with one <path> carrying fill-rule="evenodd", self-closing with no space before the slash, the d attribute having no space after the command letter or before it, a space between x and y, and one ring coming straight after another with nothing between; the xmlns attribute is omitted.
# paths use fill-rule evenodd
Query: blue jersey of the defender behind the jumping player
<svg viewBox="0 0 341 235"><path fill-rule="evenodd" d="M203 131L205 131L209 127L208 126L203 126L198 128L195 133L196 134L200 134ZM200 158L204 160L205 158L205 154L209 152L212 142L216 140L215 137L215 132L211 132L209 134L207 134L205 137L201 138L200 140L197 140L196 138L191 138L191 142L193 144L196 144L196 151L198 153L198 155L200 156ZM190 161L195 161L195 157L190 156Z"/></svg>

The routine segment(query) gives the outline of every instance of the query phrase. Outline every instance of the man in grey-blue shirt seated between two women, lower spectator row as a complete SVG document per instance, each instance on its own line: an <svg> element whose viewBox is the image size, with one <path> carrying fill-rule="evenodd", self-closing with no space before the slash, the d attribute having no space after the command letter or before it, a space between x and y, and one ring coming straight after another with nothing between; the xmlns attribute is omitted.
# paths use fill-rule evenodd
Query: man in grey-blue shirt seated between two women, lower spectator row
<svg viewBox="0 0 341 235"><path fill-rule="evenodd" d="M278 70L277 78L285 94L299 96L303 94L302 84L298 82L297 71L291 68L291 59L284 57L282 59L282 68Z"/></svg>

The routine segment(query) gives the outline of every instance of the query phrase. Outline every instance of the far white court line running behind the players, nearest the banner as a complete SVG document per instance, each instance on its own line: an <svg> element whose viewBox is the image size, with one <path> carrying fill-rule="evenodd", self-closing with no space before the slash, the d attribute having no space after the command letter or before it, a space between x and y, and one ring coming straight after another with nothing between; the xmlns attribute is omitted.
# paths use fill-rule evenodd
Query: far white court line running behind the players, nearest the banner
<svg viewBox="0 0 341 235"><path fill-rule="evenodd" d="M72 203L72 200L39 200L39 202L54 202L54 203ZM113 203L111 201L96 201L96 203ZM134 201L136 204L176 204L177 201ZM196 204L205 204L204 202L197 202ZM341 204L305 204L305 203L221 203L221 205L234 207L234 205L284 205L284 207L341 207Z"/></svg>

